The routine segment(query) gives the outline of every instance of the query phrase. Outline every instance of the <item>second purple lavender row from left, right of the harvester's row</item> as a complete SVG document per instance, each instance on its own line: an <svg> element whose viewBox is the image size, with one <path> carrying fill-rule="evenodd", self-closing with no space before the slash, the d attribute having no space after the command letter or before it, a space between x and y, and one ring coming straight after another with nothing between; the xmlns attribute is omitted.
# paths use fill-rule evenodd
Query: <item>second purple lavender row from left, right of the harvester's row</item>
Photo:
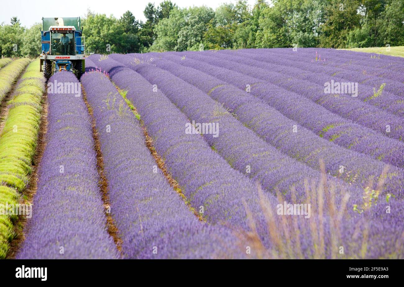
<svg viewBox="0 0 404 287"><path fill-rule="evenodd" d="M215 258L236 246L229 230L198 221L170 187L145 146L139 122L109 79L87 72L81 81L96 121L124 258Z"/></svg>

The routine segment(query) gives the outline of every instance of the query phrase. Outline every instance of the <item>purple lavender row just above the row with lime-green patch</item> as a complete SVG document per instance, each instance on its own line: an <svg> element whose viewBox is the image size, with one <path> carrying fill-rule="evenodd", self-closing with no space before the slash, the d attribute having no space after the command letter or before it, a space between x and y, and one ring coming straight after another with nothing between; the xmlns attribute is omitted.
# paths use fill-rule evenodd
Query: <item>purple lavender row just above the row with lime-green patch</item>
<svg viewBox="0 0 404 287"><path fill-rule="evenodd" d="M334 88L329 89L325 93L323 85L316 84L316 77L309 75L308 81L297 79L299 72L293 72L297 68L288 68L295 78L285 75L284 73L274 72L272 64L266 64L256 60L250 60L247 57L238 57L236 55L224 55L211 53L212 61L217 61L217 64L227 65L226 60L238 63L237 70L243 70L250 77L267 81L268 83L283 87L288 91L303 95L311 101L326 108L328 111L340 115L346 119L352 120L360 125L366 126L385 136L395 138L396 140L404 140L404 119L395 115L391 115L374 106L369 106L364 102L352 100L351 96L343 96L334 92ZM219 62L220 61L220 62ZM223 61L223 62L222 62ZM246 64L250 66L246 66ZM305 77L307 79L307 77ZM324 80L324 78L323 78ZM327 80L327 78L325 78ZM328 81L331 81L328 79ZM371 95L369 95L370 97Z"/></svg>

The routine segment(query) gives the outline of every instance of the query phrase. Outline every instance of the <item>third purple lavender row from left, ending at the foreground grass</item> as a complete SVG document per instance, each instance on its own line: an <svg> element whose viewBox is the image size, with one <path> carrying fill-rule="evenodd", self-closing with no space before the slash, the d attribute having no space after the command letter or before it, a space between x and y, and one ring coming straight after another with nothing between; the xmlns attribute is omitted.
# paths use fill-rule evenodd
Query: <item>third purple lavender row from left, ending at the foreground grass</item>
<svg viewBox="0 0 404 287"><path fill-rule="evenodd" d="M185 133L189 120L164 94L135 71L111 59L90 60L107 72L114 83L127 91L126 97L136 106L154 140L168 172L177 180L183 193L208 223L226 223L249 230L243 199L253 215L259 211L255 183L232 169L199 134ZM275 198L268 195L271 202ZM275 204L275 203L274 203ZM265 232L261 229L261 234Z"/></svg>

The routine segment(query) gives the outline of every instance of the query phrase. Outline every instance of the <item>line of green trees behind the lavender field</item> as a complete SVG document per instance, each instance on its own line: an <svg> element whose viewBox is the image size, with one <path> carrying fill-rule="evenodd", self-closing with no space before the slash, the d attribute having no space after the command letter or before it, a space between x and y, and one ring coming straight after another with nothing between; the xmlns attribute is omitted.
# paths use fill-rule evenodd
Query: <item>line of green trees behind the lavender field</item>
<svg viewBox="0 0 404 287"><path fill-rule="evenodd" d="M82 17L87 53L145 53L275 47L355 48L404 45L404 0L245 0L179 8L148 3L139 21L88 10ZM36 57L42 24L0 26L2 55Z"/></svg>

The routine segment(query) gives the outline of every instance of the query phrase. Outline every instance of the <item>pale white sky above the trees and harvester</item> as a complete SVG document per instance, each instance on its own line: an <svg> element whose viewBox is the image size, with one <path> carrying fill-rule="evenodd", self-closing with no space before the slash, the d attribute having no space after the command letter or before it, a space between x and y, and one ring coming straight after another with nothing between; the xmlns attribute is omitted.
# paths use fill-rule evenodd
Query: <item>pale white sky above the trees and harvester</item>
<svg viewBox="0 0 404 287"><path fill-rule="evenodd" d="M42 17L82 17L88 8L99 14L113 14L119 18L129 10L136 19L145 21L143 10L148 2L156 6L162 0L4 0L1 2L0 23L10 23L10 18L17 16L22 26L29 28L36 22L42 22ZM171 0L179 7L210 6L213 9L222 3L235 3L236 0ZM250 6L255 0L247 0Z"/></svg>

